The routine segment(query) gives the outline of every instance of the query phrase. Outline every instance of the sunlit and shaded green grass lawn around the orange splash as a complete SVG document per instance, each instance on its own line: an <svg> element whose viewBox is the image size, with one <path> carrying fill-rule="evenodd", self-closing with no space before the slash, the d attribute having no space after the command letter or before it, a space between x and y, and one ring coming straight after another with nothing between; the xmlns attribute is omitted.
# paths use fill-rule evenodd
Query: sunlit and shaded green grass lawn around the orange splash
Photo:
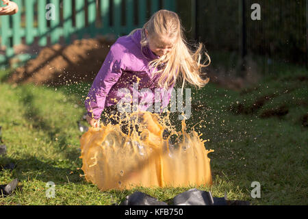
<svg viewBox="0 0 308 219"><path fill-rule="evenodd" d="M0 73L1 77L5 72ZM188 129L201 119L210 153L213 196L251 201L252 205L307 205L308 79L302 68L277 68L242 91L209 83L192 96ZM135 191L169 201L190 188L136 188L100 192L87 183L81 168L77 120L84 114L88 84L50 88L0 83L0 126L8 148L0 164L0 184L18 178L16 192L0 205L112 205ZM198 106L202 103L203 106ZM179 126L179 121L175 120ZM305 126L304 126L305 125ZM48 181L55 198L47 198ZM261 184L261 198L251 197L251 183Z"/></svg>

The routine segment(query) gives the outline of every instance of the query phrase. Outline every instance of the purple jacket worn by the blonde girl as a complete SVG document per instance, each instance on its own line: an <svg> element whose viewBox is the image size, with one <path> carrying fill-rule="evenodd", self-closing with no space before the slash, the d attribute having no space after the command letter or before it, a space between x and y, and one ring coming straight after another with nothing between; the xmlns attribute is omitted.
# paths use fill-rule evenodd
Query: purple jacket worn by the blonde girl
<svg viewBox="0 0 308 219"><path fill-rule="evenodd" d="M151 90L138 92L138 103L143 99L154 104L159 75L152 78L154 69L150 69L148 64L158 56L149 47L143 47L141 52L141 31L139 29L133 36L118 38L110 48L85 101L89 116L99 119L105 107L123 99L124 94L121 96L118 93L120 88L127 88L133 95L133 83L137 82L138 91L142 88ZM174 84L168 90L161 88L159 98L162 100L162 108L168 106L173 86ZM144 105L140 110L145 111L148 107Z"/></svg>

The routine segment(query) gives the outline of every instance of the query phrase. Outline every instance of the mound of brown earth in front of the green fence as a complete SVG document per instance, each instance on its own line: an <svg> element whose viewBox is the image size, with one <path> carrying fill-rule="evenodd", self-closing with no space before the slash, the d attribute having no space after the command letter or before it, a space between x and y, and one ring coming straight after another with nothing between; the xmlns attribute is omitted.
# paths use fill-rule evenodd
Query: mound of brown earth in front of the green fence
<svg viewBox="0 0 308 219"><path fill-rule="evenodd" d="M34 60L16 68L8 82L58 86L93 81L113 43L105 38L83 39L44 48Z"/></svg>

